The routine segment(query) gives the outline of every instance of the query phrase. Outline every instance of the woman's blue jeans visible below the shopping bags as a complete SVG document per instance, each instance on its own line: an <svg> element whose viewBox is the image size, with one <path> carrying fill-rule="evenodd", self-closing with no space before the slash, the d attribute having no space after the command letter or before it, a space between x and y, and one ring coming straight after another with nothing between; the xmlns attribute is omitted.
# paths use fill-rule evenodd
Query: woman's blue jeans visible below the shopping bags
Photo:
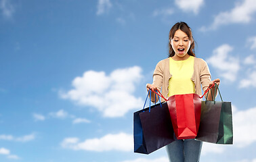
<svg viewBox="0 0 256 162"><path fill-rule="evenodd" d="M177 140L166 146L170 162L198 162L202 142L194 139Z"/></svg>

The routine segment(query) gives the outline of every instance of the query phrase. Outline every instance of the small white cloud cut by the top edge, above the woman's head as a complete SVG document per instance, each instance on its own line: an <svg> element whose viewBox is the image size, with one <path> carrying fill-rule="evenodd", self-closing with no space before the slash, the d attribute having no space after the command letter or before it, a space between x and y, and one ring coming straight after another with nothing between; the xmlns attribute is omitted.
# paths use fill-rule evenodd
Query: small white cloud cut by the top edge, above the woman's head
<svg viewBox="0 0 256 162"><path fill-rule="evenodd" d="M204 0L175 0L175 4L185 12L192 11L194 14L198 14Z"/></svg>

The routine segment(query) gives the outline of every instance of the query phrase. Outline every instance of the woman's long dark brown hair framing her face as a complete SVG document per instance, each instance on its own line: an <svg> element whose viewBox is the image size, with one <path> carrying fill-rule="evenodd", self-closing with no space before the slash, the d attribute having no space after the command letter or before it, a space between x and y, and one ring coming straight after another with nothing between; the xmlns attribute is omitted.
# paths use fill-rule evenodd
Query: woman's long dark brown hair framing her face
<svg viewBox="0 0 256 162"><path fill-rule="evenodd" d="M169 57L173 57L175 55L173 47L171 47L171 39L173 38L177 30L182 30L182 32L185 32L188 35L188 38L190 39L190 41L192 41L190 49L188 50L188 55L196 57L196 54L194 53L194 38L192 36L192 31L188 24L186 24L186 22L177 22L169 32Z"/></svg>

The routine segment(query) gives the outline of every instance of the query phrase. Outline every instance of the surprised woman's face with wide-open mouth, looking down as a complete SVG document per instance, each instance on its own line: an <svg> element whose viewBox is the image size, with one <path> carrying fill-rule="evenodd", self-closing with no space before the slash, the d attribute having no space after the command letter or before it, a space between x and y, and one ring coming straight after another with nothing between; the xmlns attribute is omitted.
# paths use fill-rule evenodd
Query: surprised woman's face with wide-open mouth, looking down
<svg viewBox="0 0 256 162"><path fill-rule="evenodd" d="M190 49L191 41L188 35L182 30L177 30L171 39L171 47L175 52L175 57L178 59L183 59L188 55L188 50Z"/></svg>

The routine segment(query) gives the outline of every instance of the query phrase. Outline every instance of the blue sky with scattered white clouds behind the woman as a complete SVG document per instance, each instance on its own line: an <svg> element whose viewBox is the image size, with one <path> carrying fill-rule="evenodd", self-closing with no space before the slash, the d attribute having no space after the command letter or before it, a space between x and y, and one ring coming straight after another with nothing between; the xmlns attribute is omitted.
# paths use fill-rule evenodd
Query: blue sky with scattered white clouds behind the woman
<svg viewBox="0 0 256 162"><path fill-rule="evenodd" d="M184 21L233 108L234 144L201 161L255 162L255 16L253 0L0 0L0 161L167 162L133 153L133 112Z"/></svg>

